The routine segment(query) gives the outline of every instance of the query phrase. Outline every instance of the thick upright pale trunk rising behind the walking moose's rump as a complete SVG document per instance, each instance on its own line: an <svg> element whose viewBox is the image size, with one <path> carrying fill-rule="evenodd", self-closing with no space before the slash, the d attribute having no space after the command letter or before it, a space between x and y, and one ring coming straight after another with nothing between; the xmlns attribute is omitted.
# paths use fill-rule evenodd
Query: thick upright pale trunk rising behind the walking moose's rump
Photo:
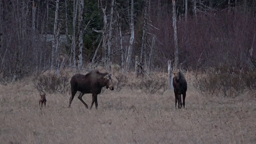
<svg viewBox="0 0 256 144"><path fill-rule="evenodd" d="M78 68L82 69L83 64L83 49L84 49L84 0L80 0L80 6L79 6L79 62L78 62Z"/></svg>

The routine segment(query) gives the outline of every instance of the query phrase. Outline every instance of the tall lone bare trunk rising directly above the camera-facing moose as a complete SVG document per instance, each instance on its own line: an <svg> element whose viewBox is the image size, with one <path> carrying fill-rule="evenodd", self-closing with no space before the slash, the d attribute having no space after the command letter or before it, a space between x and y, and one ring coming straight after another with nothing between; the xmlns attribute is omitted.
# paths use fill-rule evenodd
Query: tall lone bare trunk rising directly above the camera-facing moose
<svg viewBox="0 0 256 144"><path fill-rule="evenodd" d="M178 38L177 38L177 27L176 27L176 4L175 4L175 0L172 0L172 26L174 29L174 46L175 46L175 50L174 50L174 69L178 69L178 64L179 64L179 58L178 58Z"/></svg>

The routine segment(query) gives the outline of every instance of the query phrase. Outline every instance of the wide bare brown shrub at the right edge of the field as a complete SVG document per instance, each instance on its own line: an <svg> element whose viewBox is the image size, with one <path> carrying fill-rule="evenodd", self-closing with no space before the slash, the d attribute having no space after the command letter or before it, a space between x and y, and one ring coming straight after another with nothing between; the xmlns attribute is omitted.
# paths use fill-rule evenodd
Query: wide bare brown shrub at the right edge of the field
<svg viewBox="0 0 256 144"><path fill-rule="evenodd" d="M245 89L256 89L256 72L238 70L227 65L196 73L194 87L204 95L238 96Z"/></svg>

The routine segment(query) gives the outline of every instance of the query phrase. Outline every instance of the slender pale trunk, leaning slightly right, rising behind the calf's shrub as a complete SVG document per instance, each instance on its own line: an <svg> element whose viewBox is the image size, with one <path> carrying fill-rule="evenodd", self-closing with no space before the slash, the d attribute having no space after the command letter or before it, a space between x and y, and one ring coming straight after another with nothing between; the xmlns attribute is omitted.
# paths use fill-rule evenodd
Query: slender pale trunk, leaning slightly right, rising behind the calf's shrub
<svg viewBox="0 0 256 144"><path fill-rule="evenodd" d="M51 68L55 66L55 50L56 50L56 37L57 37L57 25L58 25L58 11L59 11L59 0L56 0L56 10L54 18L54 30L53 30L53 41L52 41L52 58L51 58Z"/></svg>

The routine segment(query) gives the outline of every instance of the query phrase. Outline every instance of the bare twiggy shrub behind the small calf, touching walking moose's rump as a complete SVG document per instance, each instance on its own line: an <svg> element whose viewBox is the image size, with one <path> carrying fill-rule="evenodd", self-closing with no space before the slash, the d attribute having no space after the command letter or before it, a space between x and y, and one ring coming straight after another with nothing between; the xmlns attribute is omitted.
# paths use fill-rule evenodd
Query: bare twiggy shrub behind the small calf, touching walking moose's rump
<svg viewBox="0 0 256 144"><path fill-rule="evenodd" d="M33 78L34 87L39 92L47 93L65 93L70 90L70 82L68 80L69 76L67 73L60 72L57 74L41 74L36 78Z"/></svg>

